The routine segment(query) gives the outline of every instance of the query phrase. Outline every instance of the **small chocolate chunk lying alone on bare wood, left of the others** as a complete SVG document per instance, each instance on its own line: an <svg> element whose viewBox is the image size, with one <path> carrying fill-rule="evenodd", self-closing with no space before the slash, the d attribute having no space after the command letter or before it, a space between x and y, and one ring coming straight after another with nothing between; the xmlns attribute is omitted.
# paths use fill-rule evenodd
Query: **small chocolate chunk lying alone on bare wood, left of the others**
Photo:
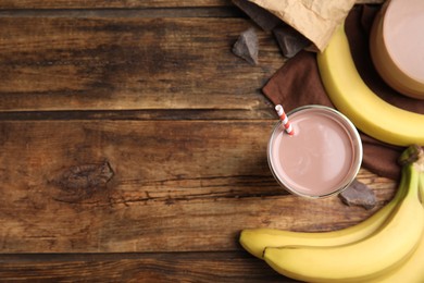
<svg viewBox="0 0 424 283"><path fill-rule="evenodd" d="M241 33L233 46L233 53L241 57L252 65L258 64L259 44L253 28Z"/></svg>

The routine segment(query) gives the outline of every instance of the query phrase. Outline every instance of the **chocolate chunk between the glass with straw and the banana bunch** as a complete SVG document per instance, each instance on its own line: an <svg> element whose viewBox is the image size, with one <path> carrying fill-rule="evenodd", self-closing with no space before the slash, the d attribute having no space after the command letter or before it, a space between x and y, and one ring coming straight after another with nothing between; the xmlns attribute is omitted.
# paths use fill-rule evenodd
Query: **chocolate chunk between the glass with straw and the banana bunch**
<svg viewBox="0 0 424 283"><path fill-rule="evenodd" d="M369 186L354 180L339 195L341 201L348 206L360 206L365 209L372 209L376 205L375 194Z"/></svg>

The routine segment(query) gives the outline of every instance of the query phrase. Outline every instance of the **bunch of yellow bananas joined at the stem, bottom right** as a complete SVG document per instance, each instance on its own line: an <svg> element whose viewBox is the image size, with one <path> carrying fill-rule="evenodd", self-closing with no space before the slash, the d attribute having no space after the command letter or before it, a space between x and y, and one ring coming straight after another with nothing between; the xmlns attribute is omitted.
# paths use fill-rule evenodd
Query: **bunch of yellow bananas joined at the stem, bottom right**
<svg viewBox="0 0 424 283"><path fill-rule="evenodd" d="M307 282L424 282L424 150L402 168L390 202L363 222L334 232L244 230L240 244L278 273Z"/></svg>

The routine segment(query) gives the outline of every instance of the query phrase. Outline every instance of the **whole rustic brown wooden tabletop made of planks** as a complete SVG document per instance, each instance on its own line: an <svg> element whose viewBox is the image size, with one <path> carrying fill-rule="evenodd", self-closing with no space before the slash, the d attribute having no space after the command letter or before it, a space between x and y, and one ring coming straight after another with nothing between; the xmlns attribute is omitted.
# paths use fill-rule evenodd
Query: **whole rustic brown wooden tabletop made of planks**
<svg viewBox="0 0 424 283"><path fill-rule="evenodd" d="M286 59L228 0L0 9L0 280L292 282L239 232L341 229L392 196L364 169L370 211L278 187L261 88ZM230 51L252 26L255 66Z"/></svg>

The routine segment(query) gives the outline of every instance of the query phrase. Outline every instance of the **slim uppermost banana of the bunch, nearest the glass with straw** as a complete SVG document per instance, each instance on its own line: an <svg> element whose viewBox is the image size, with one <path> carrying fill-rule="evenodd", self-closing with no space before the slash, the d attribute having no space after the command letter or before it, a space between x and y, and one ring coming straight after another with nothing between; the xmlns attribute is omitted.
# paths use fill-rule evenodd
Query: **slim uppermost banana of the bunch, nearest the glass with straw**
<svg viewBox="0 0 424 283"><path fill-rule="evenodd" d="M241 246L258 258L263 257L265 247L280 247L290 245L304 246L334 246L360 241L374 233L390 216L394 208L408 189L406 179L399 184L395 197L366 220L336 231L329 232L292 232L277 229L245 229L239 242Z"/></svg>

